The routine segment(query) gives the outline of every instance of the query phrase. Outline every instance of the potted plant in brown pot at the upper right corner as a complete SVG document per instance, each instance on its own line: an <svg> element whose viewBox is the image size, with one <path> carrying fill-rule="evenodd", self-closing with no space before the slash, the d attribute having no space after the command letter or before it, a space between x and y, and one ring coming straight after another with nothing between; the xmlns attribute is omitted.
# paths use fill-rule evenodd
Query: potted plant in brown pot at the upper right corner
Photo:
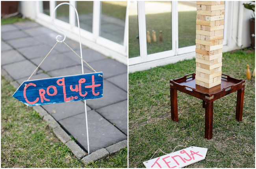
<svg viewBox="0 0 256 169"><path fill-rule="evenodd" d="M246 3L243 6L253 11L252 18L250 18L250 41L252 48L255 48L255 3Z"/></svg>

